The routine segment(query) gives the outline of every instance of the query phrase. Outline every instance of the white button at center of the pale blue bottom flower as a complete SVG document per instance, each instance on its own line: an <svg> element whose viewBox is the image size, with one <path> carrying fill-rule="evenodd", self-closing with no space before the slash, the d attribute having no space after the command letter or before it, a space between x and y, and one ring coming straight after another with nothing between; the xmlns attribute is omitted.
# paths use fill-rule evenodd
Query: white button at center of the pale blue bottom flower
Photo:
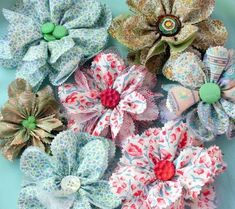
<svg viewBox="0 0 235 209"><path fill-rule="evenodd" d="M61 181L61 189L66 194L74 194L81 187L81 181L77 176L66 176Z"/></svg>

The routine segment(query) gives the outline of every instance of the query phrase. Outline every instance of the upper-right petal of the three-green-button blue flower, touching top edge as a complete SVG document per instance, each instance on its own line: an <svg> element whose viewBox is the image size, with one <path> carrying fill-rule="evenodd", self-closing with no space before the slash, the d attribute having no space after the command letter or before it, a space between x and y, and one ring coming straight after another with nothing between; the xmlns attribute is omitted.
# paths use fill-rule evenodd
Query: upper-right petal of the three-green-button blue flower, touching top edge
<svg viewBox="0 0 235 209"><path fill-rule="evenodd" d="M96 0L79 1L79 5L69 8L64 13L61 24L68 29L94 27L101 11L102 5Z"/></svg>

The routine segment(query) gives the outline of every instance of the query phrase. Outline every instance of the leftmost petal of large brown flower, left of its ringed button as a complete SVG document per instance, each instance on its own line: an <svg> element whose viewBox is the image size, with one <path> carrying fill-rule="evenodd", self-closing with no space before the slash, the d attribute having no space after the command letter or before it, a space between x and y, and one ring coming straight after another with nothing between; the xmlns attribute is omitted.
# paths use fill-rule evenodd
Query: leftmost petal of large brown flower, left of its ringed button
<svg viewBox="0 0 235 209"><path fill-rule="evenodd" d="M132 50L151 47L159 37L159 34L156 35L155 27L151 26L144 16L116 17L109 32L113 38Z"/></svg>

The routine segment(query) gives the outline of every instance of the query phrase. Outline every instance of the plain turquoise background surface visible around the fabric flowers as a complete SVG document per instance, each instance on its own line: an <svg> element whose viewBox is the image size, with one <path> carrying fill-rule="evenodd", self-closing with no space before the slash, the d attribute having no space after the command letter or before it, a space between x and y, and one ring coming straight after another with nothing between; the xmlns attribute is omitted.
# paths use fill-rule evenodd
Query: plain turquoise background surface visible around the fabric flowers
<svg viewBox="0 0 235 209"><path fill-rule="evenodd" d="M206 4L205 0L205 4ZM125 0L101 0L107 3L113 15L117 16L127 12ZM10 8L14 0L0 0L0 9ZM222 19L229 30L228 48L235 49L235 0L217 0L214 17ZM6 33L7 23L0 15L0 35ZM126 49L114 40L109 45L115 45L126 55ZM0 106L7 100L7 87L14 80L14 70L0 69ZM228 141L225 137L218 138L215 142L224 153L224 160L228 164L227 172L216 181L219 209L235 209L235 140ZM17 209L17 197L20 191L22 175L19 170L19 161L9 162L0 156L0 209Z"/></svg>

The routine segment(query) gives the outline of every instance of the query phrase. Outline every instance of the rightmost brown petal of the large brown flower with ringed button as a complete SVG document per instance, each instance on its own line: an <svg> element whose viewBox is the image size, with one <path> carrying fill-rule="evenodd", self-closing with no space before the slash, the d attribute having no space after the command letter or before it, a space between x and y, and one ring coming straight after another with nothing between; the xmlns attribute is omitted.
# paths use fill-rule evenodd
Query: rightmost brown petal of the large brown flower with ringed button
<svg viewBox="0 0 235 209"><path fill-rule="evenodd" d="M199 12L200 13L200 12ZM197 24L199 31L193 46L206 51L212 46L223 46L227 40L228 32L220 20L206 20Z"/></svg>

